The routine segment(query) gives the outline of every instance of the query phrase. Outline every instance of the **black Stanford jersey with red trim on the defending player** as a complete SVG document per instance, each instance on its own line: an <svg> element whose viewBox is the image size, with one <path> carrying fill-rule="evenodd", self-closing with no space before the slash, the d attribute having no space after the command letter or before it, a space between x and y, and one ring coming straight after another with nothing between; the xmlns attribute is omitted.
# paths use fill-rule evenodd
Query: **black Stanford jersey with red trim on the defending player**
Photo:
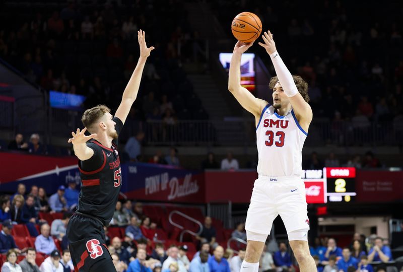
<svg viewBox="0 0 403 272"><path fill-rule="evenodd" d="M119 135L123 123L117 117L112 120ZM94 150L94 155L88 160L79 161L81 191L77 212L96 217L108 226L115 211L122 179L117 140L113 140L109 148L92 139L87 142L87 147Z"/></svg>

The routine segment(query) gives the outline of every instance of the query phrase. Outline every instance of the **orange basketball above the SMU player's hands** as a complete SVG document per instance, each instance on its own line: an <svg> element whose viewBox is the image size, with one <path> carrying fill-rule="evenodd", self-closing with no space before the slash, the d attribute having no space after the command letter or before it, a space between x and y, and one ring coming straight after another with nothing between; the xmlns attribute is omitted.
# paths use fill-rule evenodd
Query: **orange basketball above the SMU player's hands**
<svg viewBox="0 0 403 272"><path fill-rule="evenodd" d="M243 12L232 20L232 34L241 42L252 42L261 33L261 21L259 17L251 12Z"/></svg>

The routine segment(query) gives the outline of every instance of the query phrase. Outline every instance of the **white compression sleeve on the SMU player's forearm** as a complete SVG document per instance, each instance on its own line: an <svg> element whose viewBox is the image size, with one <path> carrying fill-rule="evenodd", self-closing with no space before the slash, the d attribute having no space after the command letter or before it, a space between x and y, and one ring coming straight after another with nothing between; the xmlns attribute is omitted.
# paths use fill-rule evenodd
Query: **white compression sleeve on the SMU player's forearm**
<svg viewBox="0 0 403 272"><path fill-rule="evenodd" d="M284 64L279 53L276 51L270 54L272 59L274 70L276 70L277 77L279 78L281 87L288 97L294 96L298 93L297 86L295 86L293 76L288 71L286 64Z"/></svg>

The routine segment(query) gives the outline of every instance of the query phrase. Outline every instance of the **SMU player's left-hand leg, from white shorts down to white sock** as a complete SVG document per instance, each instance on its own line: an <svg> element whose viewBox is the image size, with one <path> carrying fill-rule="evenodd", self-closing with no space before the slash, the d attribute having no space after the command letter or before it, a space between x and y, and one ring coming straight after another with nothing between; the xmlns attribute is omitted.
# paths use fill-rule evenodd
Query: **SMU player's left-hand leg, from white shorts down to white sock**
<svg viewBox="0 0 403 272"><path fill-rule="evenodd" d="M278 216L273 209L271 197L265 193L267 189L265 180L257 179L253 186L252 197L246 216L246 253L241 265L241 272L257 272L259 259L263 251L267 235L272 230L274 219Z"/></svg>

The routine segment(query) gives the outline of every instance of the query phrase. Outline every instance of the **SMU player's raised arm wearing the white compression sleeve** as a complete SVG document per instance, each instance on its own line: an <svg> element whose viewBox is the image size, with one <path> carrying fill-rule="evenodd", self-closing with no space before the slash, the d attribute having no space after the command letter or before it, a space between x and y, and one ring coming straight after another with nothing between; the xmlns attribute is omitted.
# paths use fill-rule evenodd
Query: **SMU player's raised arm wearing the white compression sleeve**
<svg viewBox="0 0 403 272"><path fill-rule="evenodd" d="M264 43L259 42L259 45L264 47L266 52L270 55L281 87L288 96L295 114L304 122L309 124L312 120L312 109L298 92L297 86L294 83L290 71L288 71L286 65L277 52L276 43L273 40L273 34L270 31L264 32L262 38Z"/></svg>

